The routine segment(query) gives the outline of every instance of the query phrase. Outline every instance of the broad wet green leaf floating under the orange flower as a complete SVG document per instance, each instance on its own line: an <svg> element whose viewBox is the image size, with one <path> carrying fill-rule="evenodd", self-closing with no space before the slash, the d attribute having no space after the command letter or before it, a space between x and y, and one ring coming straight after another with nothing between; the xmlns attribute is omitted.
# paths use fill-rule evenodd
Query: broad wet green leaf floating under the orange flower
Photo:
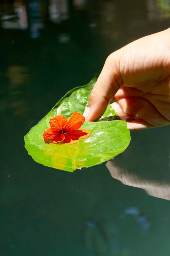
<svg viewBox="0 0 170 256"><path fill-rule="evenodd" d="M83 167L103 163L124 151L130 143L130 131L125 121L85 122L82 128L91 131L91 135L78 140L76 144L45 144L42 133L50 127L49 120L59 114L67 119L74 112L83 113L88 106L89 94L94 87L96 77L89 84L70 90L52 110L25 136L28 154L45 166L73 172ZM116 116L111 105L103 117Z"/></svg>

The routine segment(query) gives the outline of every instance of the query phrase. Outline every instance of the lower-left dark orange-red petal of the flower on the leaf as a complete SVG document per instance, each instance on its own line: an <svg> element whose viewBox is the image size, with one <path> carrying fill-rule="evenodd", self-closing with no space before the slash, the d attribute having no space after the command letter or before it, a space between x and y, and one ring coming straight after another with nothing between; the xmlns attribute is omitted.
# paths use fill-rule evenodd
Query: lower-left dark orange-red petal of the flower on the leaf
<svg viewBox="0 0 170 256"><path fill-rule="evenodd" d="M59 132L51 131L51 128L48 128L43 132L44 141L46 143L60 142L65 139L65 134L60 134Z"/></svg>

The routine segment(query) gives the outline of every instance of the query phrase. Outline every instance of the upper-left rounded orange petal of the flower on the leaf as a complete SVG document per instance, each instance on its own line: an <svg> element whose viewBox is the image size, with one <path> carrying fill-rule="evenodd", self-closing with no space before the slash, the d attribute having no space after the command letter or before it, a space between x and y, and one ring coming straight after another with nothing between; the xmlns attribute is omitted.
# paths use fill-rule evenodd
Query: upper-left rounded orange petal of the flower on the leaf
<svg viewBox="0 0 170 256"><path fill-rule="evenodd" d="M51 131L53 132L58 132L62 130L63 128L65 128L66 124L67 120L62 115L54 116L50 119Z"/></svg>

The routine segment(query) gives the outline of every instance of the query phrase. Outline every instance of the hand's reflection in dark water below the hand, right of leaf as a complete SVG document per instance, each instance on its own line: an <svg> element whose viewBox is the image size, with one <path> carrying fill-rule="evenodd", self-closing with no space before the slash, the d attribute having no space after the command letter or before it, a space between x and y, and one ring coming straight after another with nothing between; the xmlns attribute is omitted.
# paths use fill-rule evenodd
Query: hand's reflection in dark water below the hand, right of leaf
<svg viewBox="0 0 170 256"><path fill-rule="evenodd" d="M170 200L169 128L138 131L131 137L128 149L106 163L111 176Z"/></svg>

